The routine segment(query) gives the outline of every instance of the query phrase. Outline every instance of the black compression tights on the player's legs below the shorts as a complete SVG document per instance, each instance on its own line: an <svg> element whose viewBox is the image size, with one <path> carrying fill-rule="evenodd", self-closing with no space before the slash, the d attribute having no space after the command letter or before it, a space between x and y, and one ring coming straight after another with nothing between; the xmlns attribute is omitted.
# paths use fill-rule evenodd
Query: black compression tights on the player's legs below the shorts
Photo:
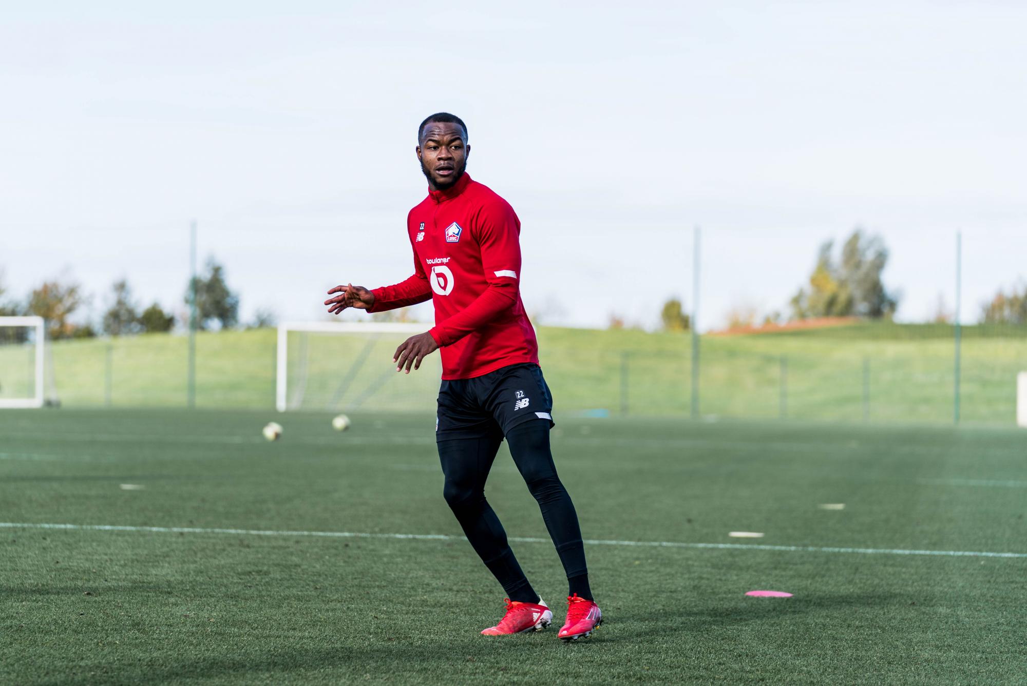
<svg viewBox="0 0 1027 686"><path fill-rule="evenodd" d="M576 593L592 600L577 512L553 464L548 423L530 421L516 426L506 441L514 462L542 510L545 527L567 573L569 595ZM440 441L439 458L446 475L443 493L467 540L509 599L534 603L538 595L514 557L499 518L485 499L485 482L500 443L502 437L498 434Z"/></svg>

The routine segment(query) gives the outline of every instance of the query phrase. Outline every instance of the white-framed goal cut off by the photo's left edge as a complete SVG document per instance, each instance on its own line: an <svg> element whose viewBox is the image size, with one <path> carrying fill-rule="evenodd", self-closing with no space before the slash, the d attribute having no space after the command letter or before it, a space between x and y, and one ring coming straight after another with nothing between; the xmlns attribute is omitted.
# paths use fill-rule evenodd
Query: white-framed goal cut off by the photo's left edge
<svg viewBox="0 0 1027 686"><path fill-rule="evenodd" d="M0 408L43 407L45 330L38 316L0 316Z"/></svg>

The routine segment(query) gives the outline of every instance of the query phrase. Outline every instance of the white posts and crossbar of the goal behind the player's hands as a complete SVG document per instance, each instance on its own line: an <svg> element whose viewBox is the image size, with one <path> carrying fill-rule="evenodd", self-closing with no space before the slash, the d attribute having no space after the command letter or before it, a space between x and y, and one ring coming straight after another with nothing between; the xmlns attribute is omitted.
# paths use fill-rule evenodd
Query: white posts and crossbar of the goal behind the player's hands
<svg viewBox="0 0 1027 686"><path fill-rule="evenodd" d="M287 410L294 409L302 404L302 401L290 402L290 394L293 393L296 388L291 386L291 379L293 379L293 384L302 383L306 384L306 379L308 372L306 370L306 346L304 345L304 359L302 360L303 372L300 374L300 379L297 380L294 377L297 374L291 374L290 371L290 334L317 334L317 335L336 335L345 336L348 339L353 339L354 336L364 335L369 339L385 337L388 344L396 340L402 340L413 334L423 334L431 325L425 322L386 322L386 321L287 321L284 323L278 325L278 343L276 351L276 381L275 381L275 397L274 407L278 412L286 412ZM387 347L387 344L386 344ZM394 349L394 348L393 348ZM383 350L376 351L375 359L382 357L384 353ZM367 361L367 357L370 354L370 348L360 348L353 350L350 348L334 349L334 350L321 350L321 355L331 355L334 361L338 365L335 367L322 366L319 370L315 370L310 374L319 375L335 375L343 377L343 384L345 385L345 379L348 378L352 380L359 368L362 368ZM293 355L295 357L296 355ZM387 357L382 357L384 361L387 361ZM394 369L394 368L393 368ZM345 370L345 371L343 371ZM425 374L431 374L431 372L423 370ZM382 378L378 375L376 379ZM377 381L373 383L378 383ZM438 376L434 376L433 383L438 384ZM378 387L377 385L375 386ZM343 393L343 389L336 386L336 390L330 393L330 397L325 398L319 397L319 403L316 407L320 409L331 409L334 403L339 399L339 396ZM303 393L301 392L302 396Z"/></svg>

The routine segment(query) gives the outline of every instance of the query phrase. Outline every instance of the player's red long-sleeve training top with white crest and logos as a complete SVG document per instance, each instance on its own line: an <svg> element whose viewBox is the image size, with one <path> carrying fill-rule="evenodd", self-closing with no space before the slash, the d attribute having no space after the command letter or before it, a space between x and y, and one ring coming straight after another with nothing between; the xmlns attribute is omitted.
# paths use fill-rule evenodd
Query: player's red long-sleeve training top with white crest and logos
<svg viewBox="0 0 1027 686"><path fill-rule="evenodd" d="M375 289L370 312L432 299L443 378L469 379L519 363L538 364L538 342L521 302L521 221L506 200L464 174L428 191L407 216L414 274Z"/></svg>

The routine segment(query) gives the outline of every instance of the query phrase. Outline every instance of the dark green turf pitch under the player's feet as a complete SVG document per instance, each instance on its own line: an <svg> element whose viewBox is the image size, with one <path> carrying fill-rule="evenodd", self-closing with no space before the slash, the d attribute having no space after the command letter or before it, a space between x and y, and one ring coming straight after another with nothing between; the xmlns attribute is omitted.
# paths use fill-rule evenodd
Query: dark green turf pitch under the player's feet
<svg viewBox="0 0 1027 686"><path fill-rule="evenodd" d="M558 408L557 465L605 541L586 552L607 617L564 645L554 628L479 636L502 590L442 499L430 414L353 415L345 433L330 418L0 413L0 683L1027 680L1027 432ZM260 434L271 419L278 443ZM488 494L510 536L546 538L505 447ZM551 545L514 547L562 623Z"/></svg>

